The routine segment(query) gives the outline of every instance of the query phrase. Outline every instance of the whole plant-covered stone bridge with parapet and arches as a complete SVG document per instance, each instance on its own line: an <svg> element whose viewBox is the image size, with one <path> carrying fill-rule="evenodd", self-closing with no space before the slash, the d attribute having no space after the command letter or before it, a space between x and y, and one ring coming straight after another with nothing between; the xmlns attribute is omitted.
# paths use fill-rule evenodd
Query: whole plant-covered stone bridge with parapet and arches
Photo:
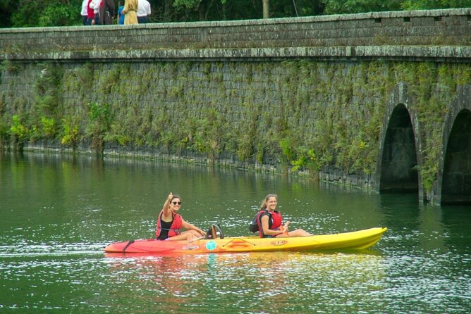
<svg viewBox="0 0 471 314"><path fill-rule="evenodd" d="M301 170L470 204L470 27L470 9L451 9L3 29L1 144ZM97 124L97 108L113 118Z"/></svg>

